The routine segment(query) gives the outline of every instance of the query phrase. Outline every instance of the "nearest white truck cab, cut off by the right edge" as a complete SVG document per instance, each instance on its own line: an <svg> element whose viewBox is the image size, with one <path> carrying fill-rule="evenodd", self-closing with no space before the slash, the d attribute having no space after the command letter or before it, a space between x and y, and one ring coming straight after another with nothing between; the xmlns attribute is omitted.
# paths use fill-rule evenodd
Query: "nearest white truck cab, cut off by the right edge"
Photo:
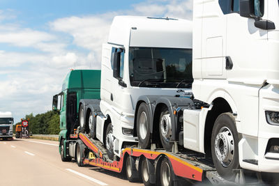
<svg viewBox="0 0 279 186"><path fill-rule="evenodd" d="M193 94L211 105L200 112L197 151L211 151L221 175L279 172L278 29L278 0L194 1ZM236 135L214 127L225 113Z"/></svg>

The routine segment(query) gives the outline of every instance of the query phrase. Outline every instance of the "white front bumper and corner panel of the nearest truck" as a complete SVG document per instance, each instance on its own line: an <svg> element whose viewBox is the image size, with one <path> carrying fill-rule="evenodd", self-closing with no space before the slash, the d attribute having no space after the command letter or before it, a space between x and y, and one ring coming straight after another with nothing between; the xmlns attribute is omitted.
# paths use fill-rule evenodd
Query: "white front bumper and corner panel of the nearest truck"
<svg viewBox="0 0 279 186"><path fill-rule="evenodd" d="M279 173L279 123L271 125L266 111L279 112L279 86L268 85L259 91L258 136L243 134L239 162L244 169Z"/></svg>

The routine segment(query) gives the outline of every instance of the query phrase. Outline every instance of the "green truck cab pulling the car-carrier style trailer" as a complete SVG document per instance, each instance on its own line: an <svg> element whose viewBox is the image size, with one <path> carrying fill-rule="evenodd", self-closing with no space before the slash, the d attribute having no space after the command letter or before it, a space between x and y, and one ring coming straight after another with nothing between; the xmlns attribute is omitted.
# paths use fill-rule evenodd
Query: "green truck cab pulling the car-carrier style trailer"
<svg viewBox="0 0 279 186"><path fill-rule="evenodd" d="M71 70L63 81L61 93L53 96L52 110L60 116L59 153L63 161L71 160L66 143L80 125L79 103L83 99L100 100L100 70Z"/></svg>

